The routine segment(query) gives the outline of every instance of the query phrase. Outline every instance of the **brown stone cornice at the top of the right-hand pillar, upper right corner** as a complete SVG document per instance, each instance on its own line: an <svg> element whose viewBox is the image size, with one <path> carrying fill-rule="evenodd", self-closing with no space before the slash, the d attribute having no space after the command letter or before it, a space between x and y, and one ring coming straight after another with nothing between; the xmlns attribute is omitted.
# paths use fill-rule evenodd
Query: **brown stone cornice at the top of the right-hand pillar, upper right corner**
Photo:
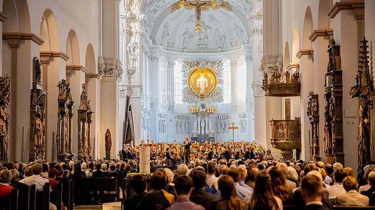
<svg viewBox="0 0 375 210"><path fill-rule="evenodd" d="M333 7L331 11L328 13L328 16L330 18L336 17L336 15L341 11L341 10L349 10L349 9L354 9L357 12L356 13L356 18L364 18L360 14L361 10L363 10L363 15L364 15L364 9L365 9L365 1L364 0L351 0L351 1L342 1L342 2L336 2L333 4Z"/></svg>

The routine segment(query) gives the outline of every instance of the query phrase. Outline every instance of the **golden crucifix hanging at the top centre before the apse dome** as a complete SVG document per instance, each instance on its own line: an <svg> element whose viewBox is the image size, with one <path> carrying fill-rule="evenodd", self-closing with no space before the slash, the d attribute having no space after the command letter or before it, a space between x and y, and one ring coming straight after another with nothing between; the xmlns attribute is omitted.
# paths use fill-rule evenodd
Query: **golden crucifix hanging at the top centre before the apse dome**
<svg viewBox="0 0 375 210"><path fill-rule="evenodd" d="M186 7L188 10L195 8L195 30L198 33L202 30L202 10L208 11L208 8L212 8L213 10L225 8L226 10L231 11L231 7L225 0L180 0L174 5L175 6L172 7L172 12L181 9L182 7Z"/></svg>

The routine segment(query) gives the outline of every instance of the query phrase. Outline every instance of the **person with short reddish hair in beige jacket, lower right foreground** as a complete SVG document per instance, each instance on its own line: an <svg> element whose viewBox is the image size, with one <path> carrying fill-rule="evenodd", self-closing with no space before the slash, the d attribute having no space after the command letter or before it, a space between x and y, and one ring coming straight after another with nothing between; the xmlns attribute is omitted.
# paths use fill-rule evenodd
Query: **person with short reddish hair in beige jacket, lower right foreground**
<svg viewBox="0 0 375 210"><path fill-rule="evenodd" d="M337 195L336 205L342 206L368 206L369 197L361 195L357 192L358 182L354 176L347 176L342 181L342 185L346 191L345 194Z"/></svg>

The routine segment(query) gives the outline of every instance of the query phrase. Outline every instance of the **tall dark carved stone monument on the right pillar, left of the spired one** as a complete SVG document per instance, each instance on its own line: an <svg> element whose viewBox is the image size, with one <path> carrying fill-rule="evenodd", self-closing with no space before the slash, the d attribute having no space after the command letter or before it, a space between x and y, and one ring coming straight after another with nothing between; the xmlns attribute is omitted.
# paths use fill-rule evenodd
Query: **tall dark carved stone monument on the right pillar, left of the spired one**
<svg viewBox="0 0 375 210"><path fill-rule="evenodd" d="M337 161L344 165L341 57L340 46L336 45L334 39L330 41L327 52L329 62L324 75L324 154L327 162Z"/></svg>

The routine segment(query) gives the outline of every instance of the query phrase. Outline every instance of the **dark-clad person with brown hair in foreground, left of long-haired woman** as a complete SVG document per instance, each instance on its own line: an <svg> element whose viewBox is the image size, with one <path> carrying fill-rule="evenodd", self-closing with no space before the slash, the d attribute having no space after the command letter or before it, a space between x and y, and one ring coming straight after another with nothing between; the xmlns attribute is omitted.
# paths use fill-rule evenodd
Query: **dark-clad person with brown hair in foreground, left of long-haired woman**
<svg viewBox="0 0 375 210"><path fill-rule="evenodd" d="M249 205L239 199L235 193L234 180L228 175L223 175L217 182L221 199L211 203L210 210L248 210Z"/></svg>

